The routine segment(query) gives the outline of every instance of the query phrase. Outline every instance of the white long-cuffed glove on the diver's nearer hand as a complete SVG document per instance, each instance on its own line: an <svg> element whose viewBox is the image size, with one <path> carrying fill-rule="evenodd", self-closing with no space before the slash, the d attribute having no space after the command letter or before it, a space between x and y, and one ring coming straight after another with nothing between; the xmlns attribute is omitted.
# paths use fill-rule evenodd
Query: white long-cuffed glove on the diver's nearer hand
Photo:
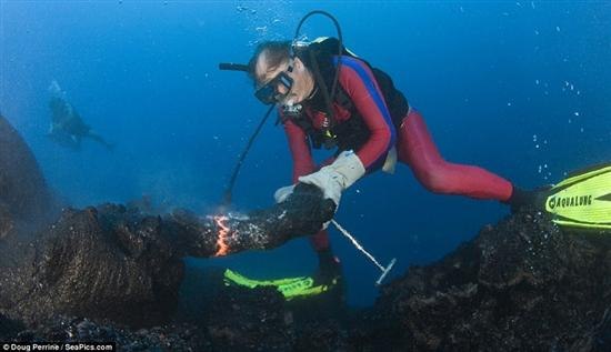
<svg viewBox="0 0 611 352"><path fill-rule="evenodd" d="M299 181L318 187L322 190L324 199L331 199L335 207L339 207L341 192L362 178L364 172L364 165L359 157L349 150L341 152L332 164L300 177Z"/></svg>

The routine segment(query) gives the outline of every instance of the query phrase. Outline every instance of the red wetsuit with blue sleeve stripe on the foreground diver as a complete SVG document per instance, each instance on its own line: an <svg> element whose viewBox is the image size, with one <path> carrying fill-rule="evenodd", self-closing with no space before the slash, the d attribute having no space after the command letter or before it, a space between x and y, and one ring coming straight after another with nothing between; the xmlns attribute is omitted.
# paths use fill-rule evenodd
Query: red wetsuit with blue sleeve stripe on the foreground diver
<svg viewBox="0 0 611 352"><path fill-rule="evenodd" d="M393 123L381 89L369 66L352 57L342 56L341 60L339 83L369 132L367 140L353 148L368 173L379 169L388 152L395 147L399 160L410 165L420 183L432 192L499 201L507 201L510 198L512 184L508 180L478 167L443 160L422 115L414 109L409 109L409 112L399 121L400 123ZM352 113L339 103L333 103L333 110L337 127L353 118ZM304 113L314 129L323 128L324 113L310 109L307 102ZM296 183L299 177L312 173L319 167L312 159L307 132L290 119L284 122L284 131L294 162L293 183ZM323 164L332 161L332 159L327 160ZM329 248L327 231L312 235L311 240L317 251Z"/></svg>

